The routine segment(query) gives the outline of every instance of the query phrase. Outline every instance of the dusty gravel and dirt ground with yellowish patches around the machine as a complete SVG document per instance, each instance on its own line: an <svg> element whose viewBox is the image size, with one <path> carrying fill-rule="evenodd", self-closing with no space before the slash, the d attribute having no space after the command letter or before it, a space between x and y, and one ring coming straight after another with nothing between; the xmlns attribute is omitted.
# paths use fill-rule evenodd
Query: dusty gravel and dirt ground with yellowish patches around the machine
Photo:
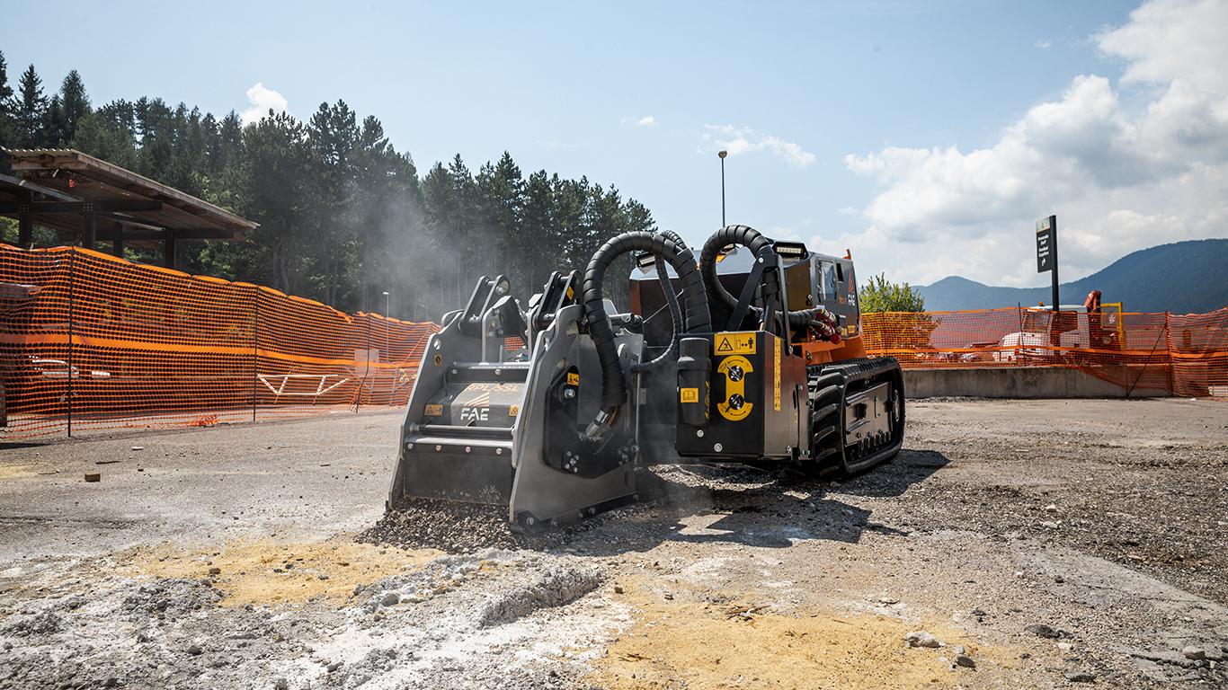
<svg viewBox="0 0 1228 690"><path fill-rule="evenodd" d="M399 421L0 444L0 688L1228 686L1222 401L910 401L847 481L456 552L367 543Z"/></svg>

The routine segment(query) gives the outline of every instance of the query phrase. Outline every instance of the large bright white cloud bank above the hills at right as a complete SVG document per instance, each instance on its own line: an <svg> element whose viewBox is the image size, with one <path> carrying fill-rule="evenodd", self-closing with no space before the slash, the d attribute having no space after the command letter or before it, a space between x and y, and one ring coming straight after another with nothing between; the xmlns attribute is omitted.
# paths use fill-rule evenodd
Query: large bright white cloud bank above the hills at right
<svg viewBox="0 0 1228 690"><path fill-rule="evenodd" d="M1228 42L1207 26L1228 26L1226 7L1224 0L1156 0L1094 37L1103 52L1125 58L1121 81L1143 88L1142 99L1122 98L1122 86L1106 77L1081 75L989 147L846 156L849 169L874 177L880 192L861 209L869 227L834 242L868 246L882 269L914 282L962 274L1034 285L1043 276L1030 228L1050 212L1062 228L1063 280L1143 247L1224 236L1228 80L1216 72L1228 70L1212 65L1228 64Z"/></svg>

